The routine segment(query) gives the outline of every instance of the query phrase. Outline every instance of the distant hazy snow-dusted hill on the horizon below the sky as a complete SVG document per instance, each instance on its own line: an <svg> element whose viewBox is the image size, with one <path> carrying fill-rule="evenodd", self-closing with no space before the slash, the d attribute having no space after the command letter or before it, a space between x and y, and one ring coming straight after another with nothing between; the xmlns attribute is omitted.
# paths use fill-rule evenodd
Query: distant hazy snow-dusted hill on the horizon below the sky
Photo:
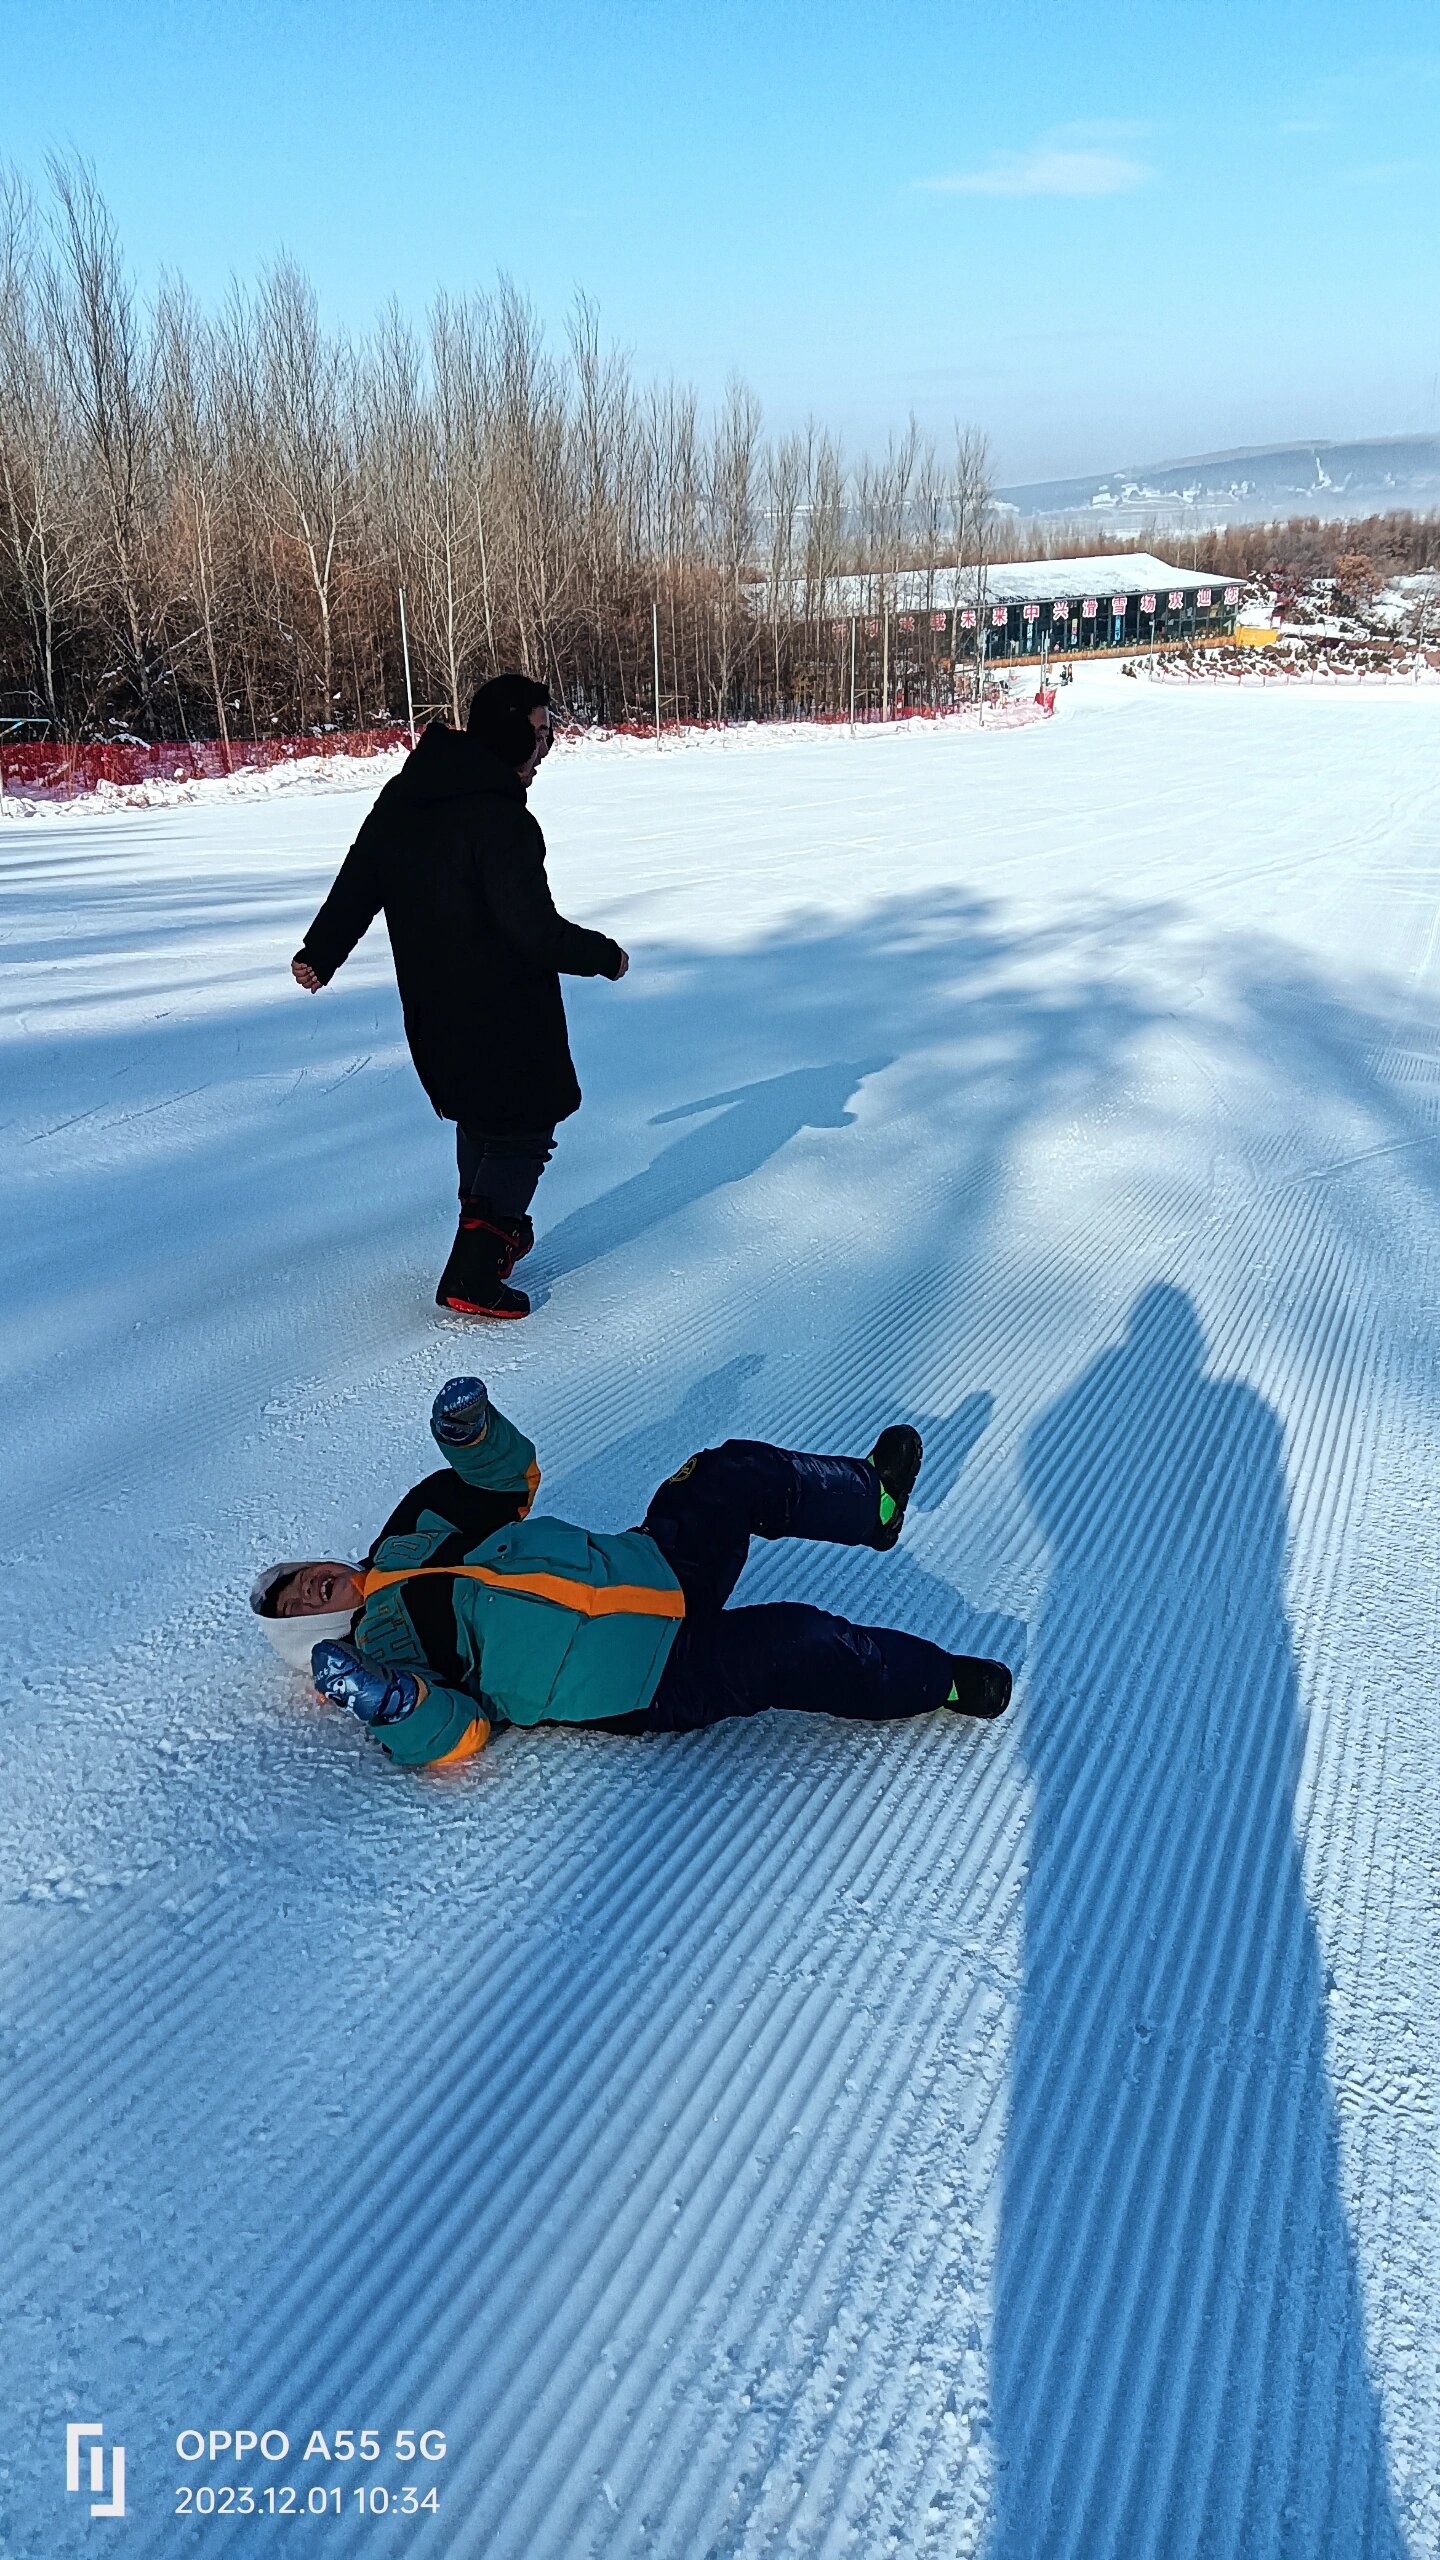
<svg viewBox="0 0 1440 2560"><path fill-rule="evenodd" d="M1384 515L1440 507L1440 435L1366 443L1253 445L1179 463L1135 463L1079 479L1002 489L1017 515L1143 525L1245 525L1276 515Z"/></svg>

